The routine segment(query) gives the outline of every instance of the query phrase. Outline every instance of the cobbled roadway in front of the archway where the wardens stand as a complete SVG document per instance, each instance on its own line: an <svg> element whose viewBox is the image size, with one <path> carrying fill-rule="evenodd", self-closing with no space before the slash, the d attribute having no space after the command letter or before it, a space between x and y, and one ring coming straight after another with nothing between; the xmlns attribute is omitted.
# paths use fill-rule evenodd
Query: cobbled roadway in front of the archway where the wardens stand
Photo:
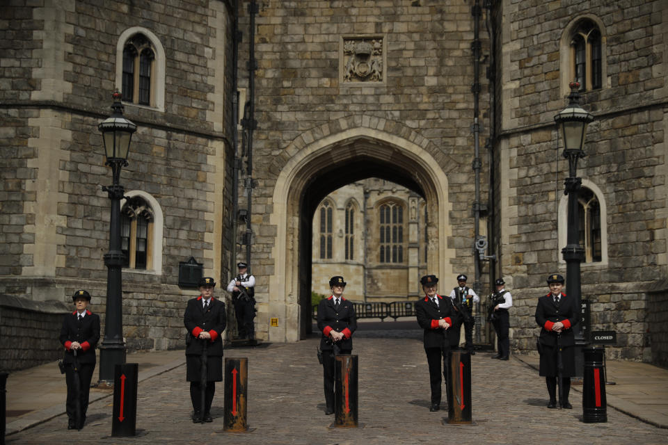
<svg viewBox="0 0 668 445"><path fill-rule="evenodd" d="M360 330L356 333L353 353L359 356L360 366L360 428L328 428L333 416L324 415L322 368L315 354L318 339L311 338L264 348L225 351L226 357L248 357L250 432L223 432L222 384L218 384L214 398L214 422L192 423L183 352L170 351L152 353L155 359L150 358L150 353L128 356L128 362L139 358L138 361L148 365L140 364L140 373L145 375L140 376L138 388L136 437L111 437L112 400L98 391L96 394L101 398L90 404L83 430L67 430L67 418L59 414L8 435L6 443L668 444L667 428L658 428L610 406L607 407L607 423L582 423L579 391L571 391L575 409L548 410L544 380L530 366L530 359L520 357L525 359L522 361L511 357L508 362L502 362L490 359L490 353L477 353L472 357L475 424L444 424L447 410L429 412L429 371L420 336L417 330L391 333ZM142 371L143 368L146 371ZM659 370L665 383L668 371ZM64 387L64 379L60 382ZM25 383L30 385L29 381ZM617 383L621 387L622 382ZM664 385L657 390L665 391L665 388ZM48 398L47 391L45 387L45 398ZM445 400L445 390L443 396ZM8 410L13 409L11 399ZM60 405L61 412L63 405ZM57 407L54 405L51 409ZM17 425L19 420L8 423L8 427Z"/></svg>

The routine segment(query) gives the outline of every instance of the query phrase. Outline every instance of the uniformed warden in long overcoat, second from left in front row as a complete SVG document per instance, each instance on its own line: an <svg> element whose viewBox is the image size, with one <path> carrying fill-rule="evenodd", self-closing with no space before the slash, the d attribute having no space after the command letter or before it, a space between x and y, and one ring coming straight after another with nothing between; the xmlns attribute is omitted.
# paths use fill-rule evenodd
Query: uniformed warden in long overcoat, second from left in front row
<svg viewBox="0 0 668 445"><path fill-rule="evenodd" d="M183 323L186 337L186 380L190 382L193 422L211 422L211 403L216 382L223 380L223 339L225 303L214 298L216 282L204 277L198 282L200 296L189 300ZM205 410L202 412L202 359L207 357Z"/></svg>

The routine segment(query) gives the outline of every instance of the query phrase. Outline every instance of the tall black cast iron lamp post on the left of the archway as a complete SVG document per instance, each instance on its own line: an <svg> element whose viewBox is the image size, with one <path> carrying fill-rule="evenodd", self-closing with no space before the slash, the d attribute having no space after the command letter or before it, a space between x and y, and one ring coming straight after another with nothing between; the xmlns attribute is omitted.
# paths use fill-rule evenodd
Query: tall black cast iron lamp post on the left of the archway
<svg viewBox="0 0 668 445"><path fill-rule="evenodd" d="M125 364L125 341L123 340L122 321L122 267L125 255L120 243L120 200L125 190L118 184L120 169L127 165L127 152L130 148L132 133L136 124L123 117L120 92L113 93L113 113L100 122L97 129L102 131L104 141L104 165L111 167L112 185L102 187L109 193L111 217L109 220L109 252L104 254L107 267L106 280L106 318L104 320L104 340L100 345L100 383L113 385L114 370L117 364Z"/></svg>

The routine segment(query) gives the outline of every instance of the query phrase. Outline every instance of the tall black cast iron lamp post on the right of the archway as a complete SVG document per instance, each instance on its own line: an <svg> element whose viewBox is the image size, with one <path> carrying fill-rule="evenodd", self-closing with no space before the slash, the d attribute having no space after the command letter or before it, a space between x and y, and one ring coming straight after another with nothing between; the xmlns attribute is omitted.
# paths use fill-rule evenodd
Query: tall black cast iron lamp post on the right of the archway
<svg viewBox="0 0 668 445"><path fill-rule="evenodd" d="M582 291L580 289L580 263L584 259L584 248L580 246L580 218L578 216L578 193L582 187L582 179L577 177L578 160L584 157L584 134L587 124L594 116L580 106L580 83L570 85L568 106L555 116L557 127L564 140L564 158L568 159L568 177L565 181L564 194L568 195L568 229L566 247L562 249L566 261L566 296L575 298L578 311L582 307ZM578 317L580 315L578 314ZM582 323L573 328L575 333L575 375L582 377L583 357L582 346L586 344L582 335Z"/></svg>

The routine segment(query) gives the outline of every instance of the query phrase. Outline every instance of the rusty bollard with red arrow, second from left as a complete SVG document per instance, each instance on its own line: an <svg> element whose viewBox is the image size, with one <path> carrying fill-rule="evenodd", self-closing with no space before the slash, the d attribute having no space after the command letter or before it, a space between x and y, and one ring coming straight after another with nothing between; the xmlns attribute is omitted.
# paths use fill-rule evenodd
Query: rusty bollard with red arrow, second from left
<svg viewBox="0 0 668 445"><path fill-rule="evenodd" d="M223 430L248 431L248 358L225 358L225 419Z"/></svg>

